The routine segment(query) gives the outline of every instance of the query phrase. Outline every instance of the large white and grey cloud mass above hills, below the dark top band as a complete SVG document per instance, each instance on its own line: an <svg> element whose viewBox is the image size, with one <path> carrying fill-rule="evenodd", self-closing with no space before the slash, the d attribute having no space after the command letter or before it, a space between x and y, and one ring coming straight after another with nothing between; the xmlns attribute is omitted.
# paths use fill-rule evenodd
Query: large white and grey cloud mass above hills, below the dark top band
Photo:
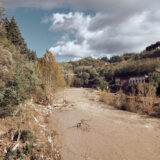
<svg viewBox="0 0 160 160"><path fill-rule="evenodd" d="M63 36L50 50L56 56L72 57L111 56L141 51L159 40L160 23L157 25L157 21L149 21L150 16L151 12L143 12L119 23L109 18L107 23L108 16L101 13L94 17L80 12L53 14L50 31L64 32L67 38Z"/></svg>

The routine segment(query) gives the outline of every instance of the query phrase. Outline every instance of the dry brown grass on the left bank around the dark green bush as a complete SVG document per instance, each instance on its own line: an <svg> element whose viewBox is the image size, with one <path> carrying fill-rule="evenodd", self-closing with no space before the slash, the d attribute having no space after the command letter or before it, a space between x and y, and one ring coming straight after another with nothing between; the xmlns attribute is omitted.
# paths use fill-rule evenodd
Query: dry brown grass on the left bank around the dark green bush
<svg viewBox="0 0 160 160"><path fill-rule="evenodd" d="M15 142L12 137L17 131L29 130L36 137L33 143L33 155L37 160L60 160L60 153L54 146L56 132L47 127L50 109L33 104L30 100L20 107L23 111L19 116L0 120L0 156L5 156L4 151L11 150L16 144L20 144L17 149L22 150L26 143L23 144L19 140Z"/></svg>

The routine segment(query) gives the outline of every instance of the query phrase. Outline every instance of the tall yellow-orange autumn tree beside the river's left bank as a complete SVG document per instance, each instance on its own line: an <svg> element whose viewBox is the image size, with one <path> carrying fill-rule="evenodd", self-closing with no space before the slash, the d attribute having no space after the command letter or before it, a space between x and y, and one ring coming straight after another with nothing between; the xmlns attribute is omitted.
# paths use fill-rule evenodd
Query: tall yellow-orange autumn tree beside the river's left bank
<svg viewBox="0 0 160 160"><path fill-rule="evenodd" d="M52 53L47 50L39 59L37 72L47 91L55 91L65 86L64 76Z"/></svg>

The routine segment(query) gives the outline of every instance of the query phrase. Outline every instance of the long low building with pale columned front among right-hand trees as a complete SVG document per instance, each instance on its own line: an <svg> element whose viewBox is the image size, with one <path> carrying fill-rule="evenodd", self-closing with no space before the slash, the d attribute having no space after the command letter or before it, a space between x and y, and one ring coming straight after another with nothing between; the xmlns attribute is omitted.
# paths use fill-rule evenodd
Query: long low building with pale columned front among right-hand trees
<svg viewBox="0 0 160 160"><path fill-rule="evenodd" d="M122 86L127 86L129 84L134 84L134 83L145 83L147 78L148 78L147 75L117 77L115 78L115 84L117 86L122 87Z"/></svg>

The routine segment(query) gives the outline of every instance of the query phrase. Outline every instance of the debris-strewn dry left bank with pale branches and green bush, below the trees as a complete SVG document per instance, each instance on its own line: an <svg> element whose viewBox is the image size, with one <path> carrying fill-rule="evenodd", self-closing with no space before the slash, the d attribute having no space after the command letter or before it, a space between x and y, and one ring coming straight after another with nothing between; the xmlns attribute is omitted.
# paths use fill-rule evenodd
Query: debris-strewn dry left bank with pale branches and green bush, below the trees
<svg viewBox="0 0 160 160"><path fill-rule="evenodd" d="M0 121L0 159L60 160L61 155L54 145L56 131L49 129L49 117L57 107L66 107L67 101L53 105L39 105L33 99L19 106L20 115Z"/></svg>

